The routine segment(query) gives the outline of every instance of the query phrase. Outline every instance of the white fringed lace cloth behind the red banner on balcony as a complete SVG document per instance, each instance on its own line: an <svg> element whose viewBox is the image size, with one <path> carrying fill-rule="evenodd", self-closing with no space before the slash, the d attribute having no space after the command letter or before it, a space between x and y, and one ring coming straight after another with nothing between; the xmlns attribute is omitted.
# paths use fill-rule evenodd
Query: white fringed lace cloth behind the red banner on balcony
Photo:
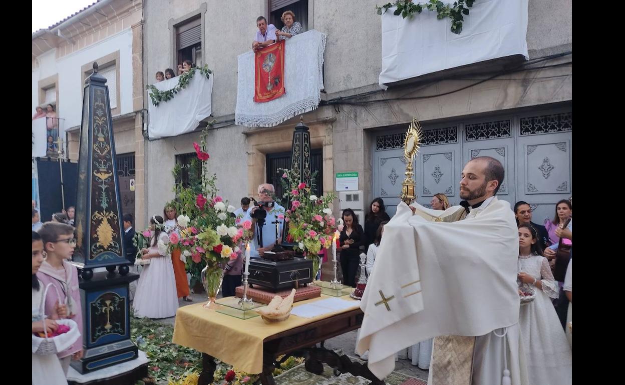
<svg viewBox="0 0 625 385"><path fill-rule="evenodd" d="M323 87L323 54L326 35L304 32L287 39L284 46L284 90L269 102L254 102L254 52L239 55L234 124L274 127L295 115L317 108Z"/></svg>

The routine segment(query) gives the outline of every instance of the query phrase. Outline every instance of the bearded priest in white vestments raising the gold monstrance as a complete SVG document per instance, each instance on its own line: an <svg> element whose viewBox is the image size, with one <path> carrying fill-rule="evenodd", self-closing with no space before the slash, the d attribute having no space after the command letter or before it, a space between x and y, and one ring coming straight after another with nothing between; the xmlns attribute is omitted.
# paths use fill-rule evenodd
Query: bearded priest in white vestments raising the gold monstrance
<svg viewBox="0 0 625 385"><path fill-rule="evenodd" d="M517 225L510 204L494 196L503 177L498 160L477 157L462 170L461 206L397 206L362 297L356 343L359 353L369 350L377 378L392 372L397 351L436 337L428 385L527 385Z"/></svg>

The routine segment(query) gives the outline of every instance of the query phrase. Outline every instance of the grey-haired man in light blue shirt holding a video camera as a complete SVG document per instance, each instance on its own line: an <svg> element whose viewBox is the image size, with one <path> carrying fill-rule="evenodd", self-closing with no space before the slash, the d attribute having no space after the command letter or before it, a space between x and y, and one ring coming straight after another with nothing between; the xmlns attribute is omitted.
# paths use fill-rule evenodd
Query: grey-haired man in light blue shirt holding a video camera
<svg viewBox="0 0 625 385"><path fill-rule="evenodd" d="M274 186L269 183L263 183L262 185L259 185L258 186L258 203L259 204L268 203L268 202L274 203L274 199L272 198L272 195L275 192L276 190ZM269 205L271 205L271 203L269 203ZM256 214L257 210L265 210L266 217L264 218L264 221L262 219L257 218L259 217L259 215ZM258 205L250 205L249 209L247 209L244 220L249 219L252 221L252 231L254 233L252 237L253 241L252 241L251 250L250 250L250 256L252 258L258 258L260 256L259 253L263 253L264 251L271 250L271 248L274 246L274 243L276 243L276 225L273 222L276 222L276 218L280 214L284 215L284 207L282 207L281 205L277 203L274 203L273 207L267 207L266 205L263 205L262 208L259 208ZM284 219L278 219L278 220L280 221L279 229L278 229L278 237L279 237L278 243L279 243L280 240L282 239ZM262 247L258 243L259 227L261 223L262 223L262 231L261 231Z"/></svg>

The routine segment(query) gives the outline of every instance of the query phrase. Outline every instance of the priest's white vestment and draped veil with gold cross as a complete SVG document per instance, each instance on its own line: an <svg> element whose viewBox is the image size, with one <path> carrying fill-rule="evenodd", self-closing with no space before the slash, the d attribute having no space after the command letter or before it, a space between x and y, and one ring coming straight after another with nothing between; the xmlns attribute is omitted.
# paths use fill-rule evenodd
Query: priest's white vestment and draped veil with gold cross
<svg viewBox="0 0 625 385"><path fill-rule="evenodd" d="M357 351L369 349L367 365L377 378L391 373L397 349L449 334L489 337L519 319L518 236L509 203L489 198L464 220L458 220L460 206L440 211L417 205L416 210L419 215L412 215L400 203L384 227L377 267L361 301L365 316ZM387 299L394 296L387 300L391 311L381 303L380 291ZM524 384L521 346L510 341L516 337L507 336L509 369L512 384ZM488 354L487 360L496 353L482 349L481 354Z"/></svg>

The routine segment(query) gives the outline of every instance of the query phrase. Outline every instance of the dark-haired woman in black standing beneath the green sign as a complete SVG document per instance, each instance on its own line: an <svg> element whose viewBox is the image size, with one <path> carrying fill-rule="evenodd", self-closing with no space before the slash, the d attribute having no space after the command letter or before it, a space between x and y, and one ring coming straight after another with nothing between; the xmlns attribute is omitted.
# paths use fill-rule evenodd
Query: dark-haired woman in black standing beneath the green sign
<svg viewBox="0 0 625 385"><path fill-rule="evenodd" d="M362 246L362 241L364 241L364 230L358 224L358 217L351 208L343 210L342 220L344 226L339 236L339 246L341 246L343 283L355 288L356 271L360 264L360 247Z"/></svg>

